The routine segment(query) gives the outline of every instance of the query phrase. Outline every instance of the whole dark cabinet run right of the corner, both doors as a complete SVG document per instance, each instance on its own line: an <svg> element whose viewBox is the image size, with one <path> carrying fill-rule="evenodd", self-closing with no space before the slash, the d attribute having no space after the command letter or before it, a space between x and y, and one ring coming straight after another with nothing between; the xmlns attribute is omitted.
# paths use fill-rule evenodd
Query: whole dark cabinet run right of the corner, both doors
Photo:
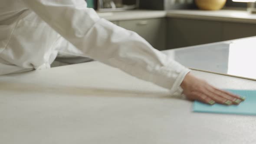
<svg viewBox="0 0 256 144"><path fill-rule="evenodd" d="M167 19L167 49L249 36L256 36L256 24L184 18Z"/></svg>

